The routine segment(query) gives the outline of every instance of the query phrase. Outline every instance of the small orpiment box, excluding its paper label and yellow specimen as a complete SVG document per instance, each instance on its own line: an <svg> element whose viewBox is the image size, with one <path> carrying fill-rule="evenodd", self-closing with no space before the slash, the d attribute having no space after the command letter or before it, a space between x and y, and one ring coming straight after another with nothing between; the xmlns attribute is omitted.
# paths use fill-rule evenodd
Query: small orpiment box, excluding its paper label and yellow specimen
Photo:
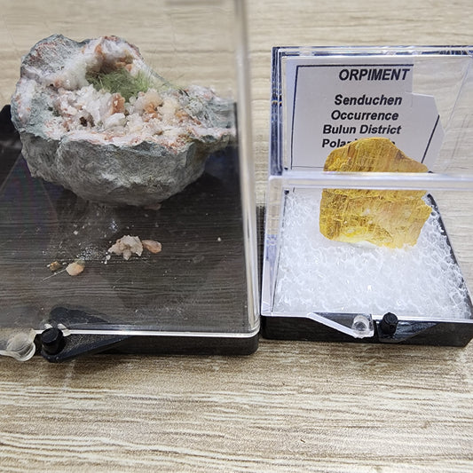
<svg viewBox="0 0 473 473"><path fill-rule="evenodd" d="M291 149L296 147L290 145L294 123L288 114L286 60L295 57L307 59L308 64L318 57L333 58L334 64L341 59L350 63L359 58L367 64L379 58L413 64L413 91L435 99L444 132L429 172L336 172L317 166L292 166L291 160L297 157L291 156ZM470 49L275 48L272 74L271 176L262 294L264 334L330 340L339 332L343 340L468 343L473 335ZM314 87L318 85L315 83ZM343 89L340 93L344 93ZM326 156L331 151L328 148ZM416 156L410 157L421 162ZM347 195L366 191L374 196L422 191L423 201L432 210L414 245L386 248L366 242L329 240L321 233L319 217L322 196L330 190ZM381 333L380 322L387 313L397 316L397 335ZM327 335L325 327L335 332ZM318 330L322 335L317 334ZM436 335L431 337L425 335L434 332Z"/></svg>

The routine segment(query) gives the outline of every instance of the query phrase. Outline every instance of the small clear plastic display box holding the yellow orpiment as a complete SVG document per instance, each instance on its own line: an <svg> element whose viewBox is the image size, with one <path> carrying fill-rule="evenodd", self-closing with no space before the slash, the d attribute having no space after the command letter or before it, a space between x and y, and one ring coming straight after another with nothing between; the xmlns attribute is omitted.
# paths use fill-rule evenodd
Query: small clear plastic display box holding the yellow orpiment
<svg viewBox="0 0 473 473"><path fill-rule="evenodd" d="M469 343L473 49L274 48L271 118L262 334ZM323 170L338 146L374 137L394 141L428 172ZM334 189L425 191L430 217L400 248L329 240L320 201Z"/></svg>

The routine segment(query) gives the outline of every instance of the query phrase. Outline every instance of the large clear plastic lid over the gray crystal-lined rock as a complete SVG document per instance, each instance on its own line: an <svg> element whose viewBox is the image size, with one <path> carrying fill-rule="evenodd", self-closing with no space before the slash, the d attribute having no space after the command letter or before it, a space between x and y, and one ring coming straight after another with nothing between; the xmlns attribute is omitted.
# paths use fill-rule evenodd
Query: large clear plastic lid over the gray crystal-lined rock
<svg viewBox="0 0 473 473"><path fill-rule="evenodd" d="M5 122L2 130L0 352L28 359L31 350L22 344L31 349L35 334L54 326L68 334L255 335L256 225L244 4L163 1L151 11L134 5L132 12L118 7L105 12L99 4L86 11L61 5L51 12L47 28L30 28L30 12L24 25L9 27L18 64L15 81L2 88L5 105L20 77L20 56L45 37L27 60L37 59L35 51L55 52L43 69L27 64L26 76L29 81L35 75L35 84L14 93L12 116L24 156L11 126ZM82 56L71 59L76 65L68 59L54 63L69 40L84 38L93 39L73 44L82 48ZM130 93L114 90L106 81L117 71L134 75L133 80L141 77L135 74L134 46L153 69L152 83ZM67 83L83 74L76 70L81 67L86 83ZM50 125L42 124L36 133L35 118L24 118L28 104L22 99L25 90L42 87L43 96L33 95L31 104L35 108L43 100L38 97L53 96L51 104L44 99L50 125L56 127L46 138ZM103 113L104 104L117 109L98 122L94 114ZM99 138L84 138L88 132ZM55 164L44 162L49 155L43 155L44 142L60 143L58 149L69 146L59 177L51 170ZM75 145L85 152L74 154ZM114 173L112 148L120 148L124 164L108 185L108 174ZM149 154L159 148L162 162L148 164L147 155L137 152L142 148ZM89 154L99 159L88 162ZM153 177L160 166L168 173L164 184ZM91 183L98 174L105 180ZM123 200L116 195L124 180L129 188ZM172 190L164 198L142 198L149 191L143 190L146 183ZM96 185L91 194L89 184Z"/></svg>

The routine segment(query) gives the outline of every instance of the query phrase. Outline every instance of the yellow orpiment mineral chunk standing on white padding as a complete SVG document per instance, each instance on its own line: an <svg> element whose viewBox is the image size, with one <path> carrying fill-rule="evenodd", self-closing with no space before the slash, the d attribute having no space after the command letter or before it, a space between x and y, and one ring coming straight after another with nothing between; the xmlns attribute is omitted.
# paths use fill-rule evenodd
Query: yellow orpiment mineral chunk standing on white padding
<svg viewBox="0 0 473 473"><path fill-rule="evenodd" d="M343 172L426 172L388 138L362 138L335 149L324 170ZM329 240L370 241L378 246L415 245L431 208L425 191L324 189L320 233Z"/></svg>

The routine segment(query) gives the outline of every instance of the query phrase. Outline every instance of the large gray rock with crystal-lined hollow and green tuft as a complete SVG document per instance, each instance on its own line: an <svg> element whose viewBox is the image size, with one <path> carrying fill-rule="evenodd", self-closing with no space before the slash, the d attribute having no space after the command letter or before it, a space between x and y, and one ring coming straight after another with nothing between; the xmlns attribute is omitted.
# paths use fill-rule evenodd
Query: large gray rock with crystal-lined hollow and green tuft
<svg viewBox="0 0 473 473"><path fill-rule="evenodd" d="M170 84L115 36L36 43L22 59L12 121L33 176L111 205L156 205L235 138L232 100Z"/></svg>

